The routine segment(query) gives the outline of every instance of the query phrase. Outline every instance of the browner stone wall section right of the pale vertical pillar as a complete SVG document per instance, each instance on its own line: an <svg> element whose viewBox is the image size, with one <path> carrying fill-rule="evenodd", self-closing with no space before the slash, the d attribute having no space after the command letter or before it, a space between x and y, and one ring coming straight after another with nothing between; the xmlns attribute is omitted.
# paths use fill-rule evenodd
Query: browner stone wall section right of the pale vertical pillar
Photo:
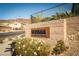
<svg viewBox="0 0 79 59"><path fill-rule="evenodd" d="M72 17L67 19L67 34L72 35L79 32L79 17Z"/></svg>

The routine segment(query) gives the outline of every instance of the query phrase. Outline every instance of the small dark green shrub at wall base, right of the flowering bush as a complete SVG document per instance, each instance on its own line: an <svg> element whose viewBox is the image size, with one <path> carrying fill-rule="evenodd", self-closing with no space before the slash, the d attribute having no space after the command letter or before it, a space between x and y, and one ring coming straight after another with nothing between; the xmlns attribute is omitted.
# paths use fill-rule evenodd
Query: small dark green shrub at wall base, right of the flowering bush
<svg viewBox="0 0 79 59"><path fill-rule="evenodd" d="M56 46L53 48L52 54L58 55L66 51L68 47L65 46L62 40L57 41Z"/></svg>

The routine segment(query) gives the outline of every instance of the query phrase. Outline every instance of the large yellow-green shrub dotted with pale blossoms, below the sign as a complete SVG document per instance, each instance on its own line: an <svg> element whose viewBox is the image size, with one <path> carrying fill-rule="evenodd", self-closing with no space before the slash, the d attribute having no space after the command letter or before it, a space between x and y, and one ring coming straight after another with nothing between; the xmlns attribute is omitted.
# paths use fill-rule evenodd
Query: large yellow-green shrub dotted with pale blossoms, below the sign
<svg viewBox="0 0 79 59"><path fill-rule="evenodd" d="M21 56L46 56L50 54L50 44L36 39L22 38L16 40L15 53Z"/></svg>

